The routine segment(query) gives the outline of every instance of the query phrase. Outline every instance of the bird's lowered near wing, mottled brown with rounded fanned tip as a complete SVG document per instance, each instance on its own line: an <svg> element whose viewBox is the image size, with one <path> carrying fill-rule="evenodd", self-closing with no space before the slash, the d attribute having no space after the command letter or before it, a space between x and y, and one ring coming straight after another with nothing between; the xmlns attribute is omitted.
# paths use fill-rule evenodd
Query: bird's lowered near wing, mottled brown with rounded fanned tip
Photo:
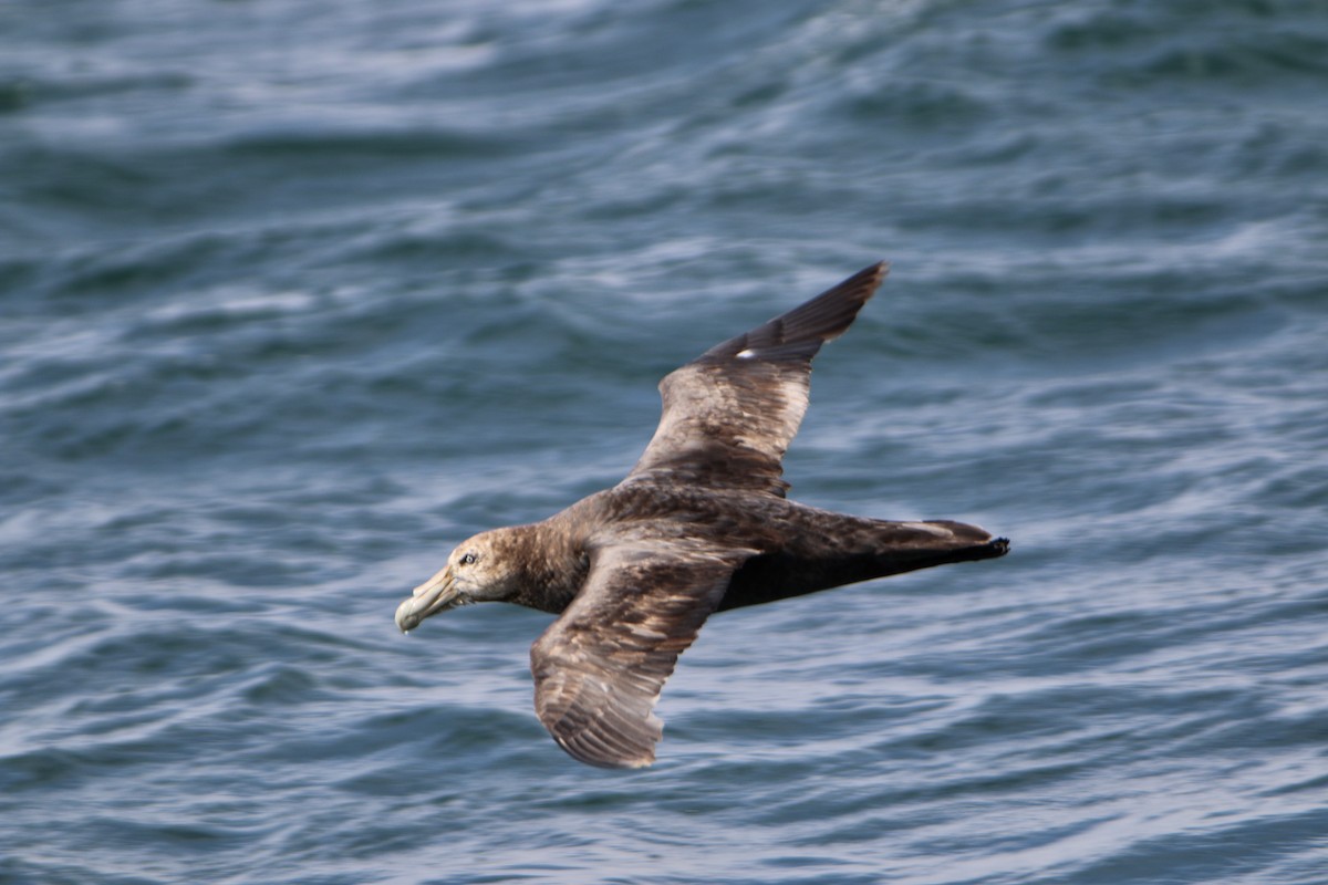
<svg viewBox="0 0 1328 885"><path fill-rule="evenodd" d="M584 588L530 649L535 713L554 740L591 766L651 764L664 681L752 553L668 537L592 553Z"/></svg>

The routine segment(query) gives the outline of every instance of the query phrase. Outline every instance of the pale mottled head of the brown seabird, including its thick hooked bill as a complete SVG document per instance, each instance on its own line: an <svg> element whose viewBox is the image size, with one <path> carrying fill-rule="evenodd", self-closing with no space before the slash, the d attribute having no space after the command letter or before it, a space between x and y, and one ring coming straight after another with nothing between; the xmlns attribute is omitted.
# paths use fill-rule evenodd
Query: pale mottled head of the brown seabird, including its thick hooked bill
<svg viewBox="0 0 1328 885"><path fill-rule="evenodd" d="M457 545L448 564L397 606L397 626L413 630L426 617L471 602L501 602L521 589L519 569L510 556L514 532L497 528Z"/></svg>

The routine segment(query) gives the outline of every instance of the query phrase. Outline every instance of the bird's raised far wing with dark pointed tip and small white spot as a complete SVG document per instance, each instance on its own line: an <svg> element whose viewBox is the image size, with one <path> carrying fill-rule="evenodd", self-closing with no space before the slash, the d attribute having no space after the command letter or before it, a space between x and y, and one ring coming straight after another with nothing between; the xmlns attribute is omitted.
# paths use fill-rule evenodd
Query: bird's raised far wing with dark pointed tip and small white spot
<svg viewBox="0 0 1328 885"><path fill-rule="evenodd" d="M664 411L627 482L681 482L784 496L784 452L807 410L811 358L849 328L888 265L718 344L660 382Z"/></svg>

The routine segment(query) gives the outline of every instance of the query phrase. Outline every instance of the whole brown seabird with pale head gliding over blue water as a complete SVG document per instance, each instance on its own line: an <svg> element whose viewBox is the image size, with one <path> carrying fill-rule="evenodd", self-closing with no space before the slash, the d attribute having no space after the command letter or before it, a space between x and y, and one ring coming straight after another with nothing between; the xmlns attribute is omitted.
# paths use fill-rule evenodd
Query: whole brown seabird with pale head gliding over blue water
<svg viewBox="0 0 1328 885"><path fill-rule="evenodd" d="M463 541L397 608L397 626L471 602L560 616L530 649L540 722L580 762L639 768L655 760L664 681L713 612L1004 556L1009 541L976 525L785 498L781 462L807 410L811 358L887 269L874 264L672 372L627 479L540 523Z"/></svg>

